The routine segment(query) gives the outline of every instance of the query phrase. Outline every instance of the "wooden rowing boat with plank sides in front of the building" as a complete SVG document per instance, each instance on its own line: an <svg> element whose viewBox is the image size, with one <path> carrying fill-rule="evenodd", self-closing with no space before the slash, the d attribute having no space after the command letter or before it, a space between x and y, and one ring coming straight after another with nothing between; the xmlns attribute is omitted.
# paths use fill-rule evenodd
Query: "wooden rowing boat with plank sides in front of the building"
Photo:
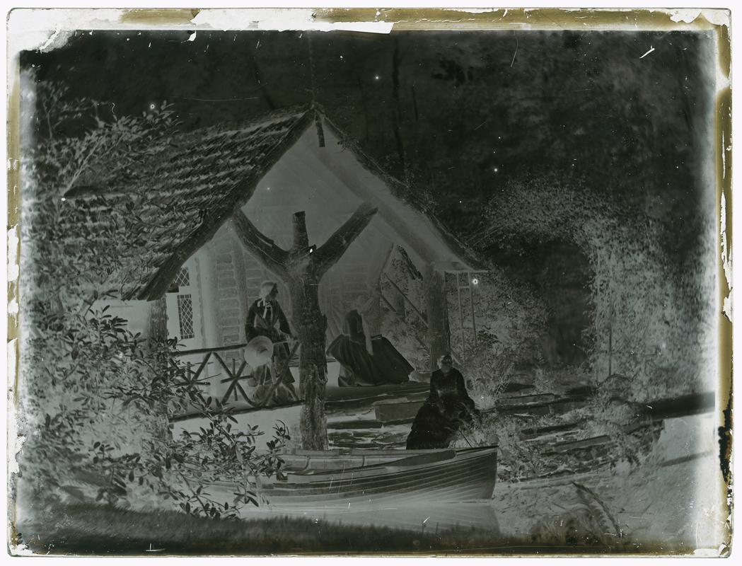
<svg viewBox="0 0 742 566"><path fill-rule="evenodd" d="M497 447L457 450L298 450L282 456L286 479L260 478L258 492L275 507L437 504L489 499ZM232 493L234 484L209 492Z"/></svg>

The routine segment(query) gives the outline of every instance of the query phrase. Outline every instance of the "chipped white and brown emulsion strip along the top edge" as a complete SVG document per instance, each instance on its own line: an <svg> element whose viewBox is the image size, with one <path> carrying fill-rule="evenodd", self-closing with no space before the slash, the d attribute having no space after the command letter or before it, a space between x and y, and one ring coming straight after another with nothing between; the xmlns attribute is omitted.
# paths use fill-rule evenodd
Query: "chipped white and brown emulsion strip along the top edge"
<svg viewBox="0 0 742 566"><path fill-rule="evenodd" d="M548 14L562 16L556 22ZM456 8L456 9L369 9L369 8L206 8L181 9L31 9L12 10L7 18L8 53L20 50L48 51L65 45L75 30L315 30L391 33L393 29L654 29L657 22L673 30L712 29L721 25L725 10L646 10L639 8ZM605 22L581 21L580 14L593 14ZM429 17L430 15L430 17ZM544 17L541 17L543 15ZM626 15L626 21L612 16ZM628 16L634 16L629 19ZM651 16L651 24L641 21ZM659 16L659 17L658 17Z"/></svg>

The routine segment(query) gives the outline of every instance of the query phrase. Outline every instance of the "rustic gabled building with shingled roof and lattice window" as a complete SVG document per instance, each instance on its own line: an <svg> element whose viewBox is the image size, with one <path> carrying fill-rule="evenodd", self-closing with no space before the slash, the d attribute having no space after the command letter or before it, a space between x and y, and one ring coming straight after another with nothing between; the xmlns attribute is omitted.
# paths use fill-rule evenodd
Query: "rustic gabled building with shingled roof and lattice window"
<svg viewBox="0 0 742 566"><path fill-rule="evenodd" d="M177 337L180 349L199 351L189 360L194 367L213 350L218 359L200 376L212 395L226 398L232 387L229 395L237 398L228 378L241 363L247 310L263 280L281 288L240 241L234 223L240 213L289 249L297 211L306 213L309 243L321 245L361 203L377 209L321 280L328 343L359 294L378 294L384 335L421 374L444 350L453 349L461 363L467 340L476 341L482 263L410 202L410 188L315 109L172 136L148 150L143 167L148 187L137 214L154 228L137 264L122 269L127 300L113 308L134 329ZM291 320L288 292L280 289L278 298Z"/></svg>

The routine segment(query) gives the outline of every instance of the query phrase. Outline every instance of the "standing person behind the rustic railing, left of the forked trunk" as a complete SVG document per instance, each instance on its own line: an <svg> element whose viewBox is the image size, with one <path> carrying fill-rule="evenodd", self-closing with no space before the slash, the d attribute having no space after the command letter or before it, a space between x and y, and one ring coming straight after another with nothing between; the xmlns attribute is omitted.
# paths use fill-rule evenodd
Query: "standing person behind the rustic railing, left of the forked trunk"
<svg viewBox="0 0 742 566"><path fill-rule="evenodd" d="M247 312L245 338L250 341L257 336L265 336L272 342L281 342L273 347L271 363L254 369L253 378L257 381L258 388L269 386L278 379L279 372L282 372L282 382L275 389L274 401L277 404L296 401L298 395L293 385L295 379L287 367L289 346L286 343L294 338L289 320L278 303L278 284L274 281L266 281L260 286L260 298L252 303Z"/></svg>

